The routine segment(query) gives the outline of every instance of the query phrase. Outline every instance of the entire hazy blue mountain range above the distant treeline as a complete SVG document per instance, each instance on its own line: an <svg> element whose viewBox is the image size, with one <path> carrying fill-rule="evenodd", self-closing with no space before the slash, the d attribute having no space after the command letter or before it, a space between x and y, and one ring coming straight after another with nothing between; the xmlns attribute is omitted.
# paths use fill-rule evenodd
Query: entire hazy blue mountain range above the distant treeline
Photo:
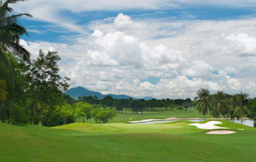
<svg viewBox="0 0 256 162"><path fill-rule="evenodd" d="M73 97L74 99L78 99L79 96L89 96L89 95L92 95L92 96L96 96L98 97L99 99L102 99L104 98L105 96L107 95L102 95L100 92L96 92L96 91L91 91L91 90L87 90L85 89L84 87L75 87L75 88L72 88L70 90L67 90L66 92L67 95L70 95L71 97ZM110 96L112 96L113 98L115 99L129 99L131 96L129 95L114 95L114 94L108 94ZM131 97L133 99L137 99L135 97ZM143 98L144 100L151 100L151 99L154 99L153 97L151 96L146 96Z"/></svg>

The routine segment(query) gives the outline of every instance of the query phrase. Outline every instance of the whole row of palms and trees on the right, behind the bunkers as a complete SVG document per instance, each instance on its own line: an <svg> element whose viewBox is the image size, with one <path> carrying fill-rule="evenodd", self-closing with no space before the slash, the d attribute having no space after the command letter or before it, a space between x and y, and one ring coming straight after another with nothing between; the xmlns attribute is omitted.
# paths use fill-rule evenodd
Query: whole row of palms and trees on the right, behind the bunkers
<svg viewBox="0 0 256 162"><path fill-rule="evenodd" d="M245 93L229 95L223 91L218 91L216 94L210 94L209 90L201 89L195 97L196 107L199 113L207 116L220 119L241 119L248 117L253 119L256 127L256 99L249 99L249 95Z"/></svg>

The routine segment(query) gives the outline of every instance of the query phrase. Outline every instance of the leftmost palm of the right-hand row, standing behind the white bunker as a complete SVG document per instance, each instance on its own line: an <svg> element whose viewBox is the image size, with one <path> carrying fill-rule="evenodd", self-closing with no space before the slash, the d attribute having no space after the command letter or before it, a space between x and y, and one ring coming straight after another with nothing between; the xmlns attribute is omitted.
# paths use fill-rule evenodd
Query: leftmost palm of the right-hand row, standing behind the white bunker
<svg viewBox="0 0 256 162"><path fill-rule="evenodd" d="M209 101L210 92L207 89L201 89L197 91L197 97L195 97L196 108L199 113L205 115L205 119L207 119L207 113L210 109L210 101Z"/></svg>

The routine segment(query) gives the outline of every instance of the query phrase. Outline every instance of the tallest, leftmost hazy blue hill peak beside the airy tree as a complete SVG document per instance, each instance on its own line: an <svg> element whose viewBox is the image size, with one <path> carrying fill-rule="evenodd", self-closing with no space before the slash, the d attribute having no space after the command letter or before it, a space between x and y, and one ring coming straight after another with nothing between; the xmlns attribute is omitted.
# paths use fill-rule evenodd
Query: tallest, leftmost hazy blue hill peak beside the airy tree
<svg viewBox="0 0 256 162"><path fill-rule="evenodd" d="M70 95L75 99L77 99L79 96L89 96L89 95L97 96L99 99L102 99L104 97L104 95L102 95L101 93L84 89L84 87L72 88L70 90L67 90L66 94Z"/></svg>

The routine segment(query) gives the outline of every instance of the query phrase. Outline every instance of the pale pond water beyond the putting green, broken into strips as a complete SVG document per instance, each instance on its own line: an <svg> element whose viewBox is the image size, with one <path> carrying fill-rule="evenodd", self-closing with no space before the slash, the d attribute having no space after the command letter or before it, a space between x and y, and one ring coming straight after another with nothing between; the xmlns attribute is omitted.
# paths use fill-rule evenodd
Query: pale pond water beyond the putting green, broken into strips
<svg viewBox="0 0 256 162"><path fill-rule="evenodd" d="M204 121L204 119L183 119L188 120L192 122L201 122ZM156 124L156 123L170 123L178 120L157 120L157 121L148 121L148 122L141 122L136 124ZM232 120L230 120L232 121ZM234 120L234 123L241 124L241 120ZM252 119L244 119L242 120L242 124L253 127L253 120Z"/></svg>

